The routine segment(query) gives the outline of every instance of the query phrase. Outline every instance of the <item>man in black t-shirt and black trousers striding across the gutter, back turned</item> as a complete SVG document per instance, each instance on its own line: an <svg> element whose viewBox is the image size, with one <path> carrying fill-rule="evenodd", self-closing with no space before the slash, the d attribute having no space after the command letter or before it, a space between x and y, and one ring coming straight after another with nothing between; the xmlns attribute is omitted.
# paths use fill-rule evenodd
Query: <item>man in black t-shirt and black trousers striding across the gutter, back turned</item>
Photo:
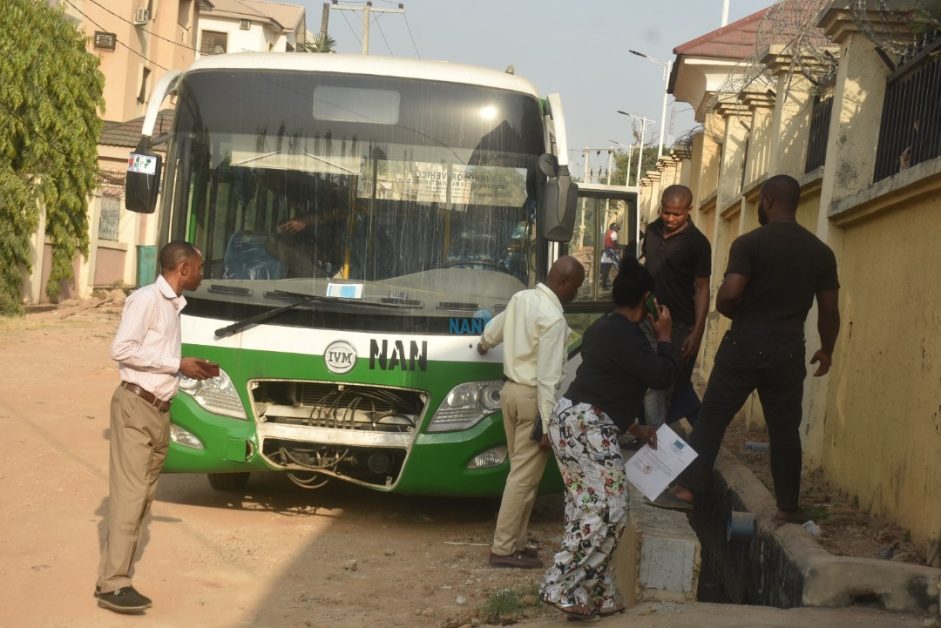
<svg viewBox="0 0 941 628"><path fill-rule="evenodd" d="M839 281L833 251L797 224L800 184L771 177L761 190L762 226L737 238L716 298L716 309L732 319L716 353L699 420L689 443L699 453L677 484L654 502L688 509L707 486L725 429L753 390L758 391L771 444L780 522L802 523L800 509L801 403L804 377L804 321L817 300L820 349L811 364L815 377L830 370L840 330Z"/></svg>

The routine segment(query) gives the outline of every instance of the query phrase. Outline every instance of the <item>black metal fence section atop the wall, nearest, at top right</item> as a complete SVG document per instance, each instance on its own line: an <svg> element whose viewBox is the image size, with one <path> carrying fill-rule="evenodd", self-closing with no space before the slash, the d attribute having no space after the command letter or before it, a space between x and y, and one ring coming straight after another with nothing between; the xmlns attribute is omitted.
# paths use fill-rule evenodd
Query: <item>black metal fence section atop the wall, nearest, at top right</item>
<svg viewBox="0 0 941 628"><path fill-rule="evenodd" d="M876 169L881 181L941 155L941 32L887 79Z"/></svg>

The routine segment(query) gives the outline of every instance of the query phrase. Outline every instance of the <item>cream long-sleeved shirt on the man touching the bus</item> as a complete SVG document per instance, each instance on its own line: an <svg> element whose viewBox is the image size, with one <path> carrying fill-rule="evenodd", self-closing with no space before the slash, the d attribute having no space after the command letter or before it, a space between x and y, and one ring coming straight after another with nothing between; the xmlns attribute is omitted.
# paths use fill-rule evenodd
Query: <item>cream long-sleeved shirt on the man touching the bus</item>
<svg viewBox="0 0 941 628"><path fill-rule="evenodd" d="M568 324L559 297L544 284L513 295L506 309L495 316L480 336L491 349L503 343L503 374L517 384L534 386L543 433L562 381L568 345Z"/></svg>

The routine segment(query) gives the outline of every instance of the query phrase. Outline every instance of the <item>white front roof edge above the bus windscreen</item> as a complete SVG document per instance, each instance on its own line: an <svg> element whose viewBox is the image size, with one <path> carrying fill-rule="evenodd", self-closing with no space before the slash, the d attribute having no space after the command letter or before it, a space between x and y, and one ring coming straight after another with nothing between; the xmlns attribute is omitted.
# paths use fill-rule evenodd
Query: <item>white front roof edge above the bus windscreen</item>
<svg viewBox="0 0 941 628"><path fill-rule="evenodd" d="M426 79L446 83L481 85L530 94L539 92L528 80L487 68L448 61L401 59L375 55L345 55L298 52L236 52L204 55L186 73L200 70L288 70L297 72L336 72Z"/></svg>

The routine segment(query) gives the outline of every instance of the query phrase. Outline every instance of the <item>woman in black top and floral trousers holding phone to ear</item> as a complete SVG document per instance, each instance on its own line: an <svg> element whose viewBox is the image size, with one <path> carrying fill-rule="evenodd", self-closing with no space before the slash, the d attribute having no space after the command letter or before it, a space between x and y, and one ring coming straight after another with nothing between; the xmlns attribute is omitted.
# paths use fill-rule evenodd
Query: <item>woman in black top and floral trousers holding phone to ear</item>
<svg viewBox="0 0 941 628"><path fill-rule="evenodd" d="M656 351L640 330L652 289L650 273L626 257L612 289L615 309L585 332L582 364L549 420L565 485L565 531L541 598L570 619L624 610L609 569L630 503L618 438L628 431L656 447L656 430L634 417L647 388L667 388L676 374L669 310L658 305L652 321Z"/></svg>

